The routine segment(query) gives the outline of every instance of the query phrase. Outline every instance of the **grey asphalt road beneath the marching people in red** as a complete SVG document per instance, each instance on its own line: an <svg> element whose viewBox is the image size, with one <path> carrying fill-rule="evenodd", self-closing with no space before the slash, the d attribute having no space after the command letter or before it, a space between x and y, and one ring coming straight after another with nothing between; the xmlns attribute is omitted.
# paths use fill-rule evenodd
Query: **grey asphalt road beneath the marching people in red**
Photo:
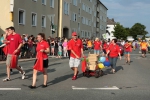
<svg viewBox="0 0 150 100"><path fill-rule="evenodd" d="M32 83L32 66L34 61L20 62L26 71L26 79L14 70L12 81L2 82L6 77L5 64L0 65L0 89L19 88L21 90L0 90L0 100L150 100L150 55L140 57L138 51L131 55L131 65L125 64L125 59L117 62L116 74L110 74L110 69L104 69L106 75L83 77L80 75L72 81L73 72L68 65L68 59L49 59L48 87L42 88L43 75L38 73L37 89L28 88Z"/></svg>

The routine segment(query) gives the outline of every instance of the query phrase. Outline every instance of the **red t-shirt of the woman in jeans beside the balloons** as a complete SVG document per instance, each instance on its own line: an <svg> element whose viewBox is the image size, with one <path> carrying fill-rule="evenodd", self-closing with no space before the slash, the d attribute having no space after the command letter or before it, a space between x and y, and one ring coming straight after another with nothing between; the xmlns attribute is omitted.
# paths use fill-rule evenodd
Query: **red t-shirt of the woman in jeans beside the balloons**
<svg viewBox="0 0 150 100"><path fill-rule="evenodd" d="M120 49L118 45L109 45L108 50L110 50L110 57L118 57L118 53L120 53Z"/></svg>

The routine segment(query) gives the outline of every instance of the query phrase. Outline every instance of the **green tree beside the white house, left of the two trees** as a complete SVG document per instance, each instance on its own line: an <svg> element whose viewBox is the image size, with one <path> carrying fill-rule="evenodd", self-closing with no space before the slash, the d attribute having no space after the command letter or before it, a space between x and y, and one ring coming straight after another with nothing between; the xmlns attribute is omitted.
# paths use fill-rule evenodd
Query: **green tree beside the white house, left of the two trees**
<svg viewBox="0 0 150 100"><path fill-rule="evenodd" d="M128 34L130 34L129 28L124 28L122 25L120 25L119 23L117 23L115 25L113 34L117 39L126 39Z"/></svg>

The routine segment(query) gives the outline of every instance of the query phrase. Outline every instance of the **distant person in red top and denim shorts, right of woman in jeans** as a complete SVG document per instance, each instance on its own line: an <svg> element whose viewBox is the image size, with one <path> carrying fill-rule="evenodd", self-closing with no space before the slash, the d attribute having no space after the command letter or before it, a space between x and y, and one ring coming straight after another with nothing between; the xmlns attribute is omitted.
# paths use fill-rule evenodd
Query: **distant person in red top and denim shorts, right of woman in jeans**
<svg viewBox="0 0 150 100"><path fill-rule="evenodd" d="M130 52L132 50L132 47L131 47L131 44L129 44L128 40L126 40L124 44L124 48L125 48L126 63L130 65Z"/></svg>

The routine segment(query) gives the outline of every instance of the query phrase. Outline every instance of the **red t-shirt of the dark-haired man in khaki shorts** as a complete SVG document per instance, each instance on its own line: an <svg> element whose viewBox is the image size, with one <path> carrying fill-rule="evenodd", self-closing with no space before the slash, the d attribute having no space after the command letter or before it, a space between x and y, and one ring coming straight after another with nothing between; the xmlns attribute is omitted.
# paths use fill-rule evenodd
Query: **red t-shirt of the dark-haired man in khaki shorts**
<svg viewBox="0 0 150 100"><path fill-rule="evenodd" d="M18 48L20 43L22 43L21 36L19 34L10 34L6 37L7 41L10 43L8 44L8 54L13 54L13 52ZM19 52L17 53L19 55Z"/></svg>

